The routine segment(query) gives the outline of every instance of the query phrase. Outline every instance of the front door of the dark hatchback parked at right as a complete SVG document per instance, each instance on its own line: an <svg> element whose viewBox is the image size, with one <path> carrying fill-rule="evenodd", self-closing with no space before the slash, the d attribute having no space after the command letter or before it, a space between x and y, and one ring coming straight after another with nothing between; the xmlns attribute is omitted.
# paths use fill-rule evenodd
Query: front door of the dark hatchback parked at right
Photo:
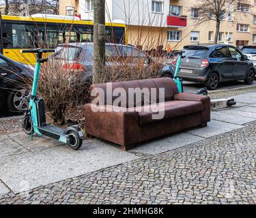
<svg viewBox="0 0 256 218"><path fill-rule="evenodd" d="M243 79L247 72L248 63L243 58L243 55L237 48L229 47L231 58L233 61L233 78Z"/></svg>

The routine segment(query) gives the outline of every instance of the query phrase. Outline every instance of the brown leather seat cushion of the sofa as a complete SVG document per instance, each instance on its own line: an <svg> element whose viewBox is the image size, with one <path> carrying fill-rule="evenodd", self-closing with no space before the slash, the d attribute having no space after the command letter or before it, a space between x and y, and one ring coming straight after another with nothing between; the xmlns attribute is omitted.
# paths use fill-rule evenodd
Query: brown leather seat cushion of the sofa
<svg viewBox="0 0 256 218"><path fill-rule="evenodd" d="M139 108L137 108L137 111L138 109ZM154 106L143 106L141 109L142 110L139 112L139 124L143 125L201 112L203 110L203 104L193 101L169 101L155 104ZM154 119L152 115L158 114L159 112L164 114L162 119Z"/></svg>

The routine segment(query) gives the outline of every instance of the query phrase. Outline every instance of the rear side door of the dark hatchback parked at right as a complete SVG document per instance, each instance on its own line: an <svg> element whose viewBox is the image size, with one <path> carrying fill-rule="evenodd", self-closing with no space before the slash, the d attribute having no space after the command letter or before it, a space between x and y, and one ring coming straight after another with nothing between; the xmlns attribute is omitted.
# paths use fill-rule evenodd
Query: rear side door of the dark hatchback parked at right
<svg viewBox="0 0 256 218"><path fill-rule="evenodd" d="M210 62L214 63L214 69L220 74L220 80L230 80L233 77L233 63L231 53L227 46L218 46L210 55Z"/></svg>

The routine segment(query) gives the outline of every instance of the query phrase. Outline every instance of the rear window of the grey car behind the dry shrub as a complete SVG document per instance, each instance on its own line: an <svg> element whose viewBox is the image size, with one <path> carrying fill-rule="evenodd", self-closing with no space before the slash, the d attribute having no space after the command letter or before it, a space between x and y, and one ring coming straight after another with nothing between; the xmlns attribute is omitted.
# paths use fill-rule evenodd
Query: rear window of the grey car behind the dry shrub
<svg viewBox="0 0 256 218"><path fill-rule="evenodd" d="M53 57L55 59L75 61L79 57L81 50L82 48L77 46L59 46L56 48Z"/></svg>

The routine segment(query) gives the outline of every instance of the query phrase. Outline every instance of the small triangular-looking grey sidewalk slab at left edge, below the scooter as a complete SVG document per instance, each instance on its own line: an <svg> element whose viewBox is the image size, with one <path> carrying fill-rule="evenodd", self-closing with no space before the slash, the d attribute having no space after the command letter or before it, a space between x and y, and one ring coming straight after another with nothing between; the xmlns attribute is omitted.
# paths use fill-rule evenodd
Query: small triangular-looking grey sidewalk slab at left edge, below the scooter
<svg viewBox="0 0 256 218"><path fill-rule="evenodd" d="M27 152L27 149L10 140L8 136L0 136L0 157L18 155L24 152Z"/></svg>

